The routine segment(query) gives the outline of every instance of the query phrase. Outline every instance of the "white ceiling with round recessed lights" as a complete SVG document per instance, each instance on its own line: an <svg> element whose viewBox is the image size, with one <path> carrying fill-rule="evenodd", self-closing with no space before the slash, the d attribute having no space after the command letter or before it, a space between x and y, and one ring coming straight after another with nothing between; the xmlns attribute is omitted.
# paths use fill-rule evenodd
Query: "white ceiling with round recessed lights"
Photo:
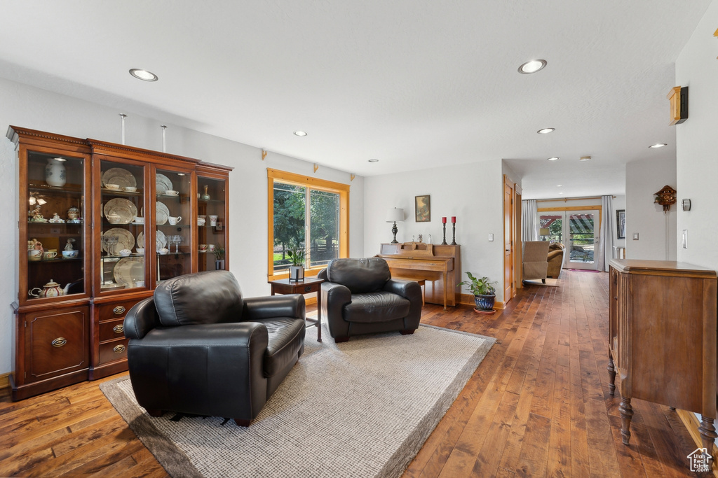
<svg viewBox="0 0 718 478"><path fill-rule="evenodd" d="M363 176L503 158L526 199L622 194L625 163L676 155L709 4L0 0L0 76Z"/></svg>

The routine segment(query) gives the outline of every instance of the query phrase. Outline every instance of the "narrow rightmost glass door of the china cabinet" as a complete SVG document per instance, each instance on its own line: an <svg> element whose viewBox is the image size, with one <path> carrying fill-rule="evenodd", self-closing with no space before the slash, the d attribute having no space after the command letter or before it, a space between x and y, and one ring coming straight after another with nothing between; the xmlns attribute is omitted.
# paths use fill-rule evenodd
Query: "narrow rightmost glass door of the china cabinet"
<svg viewBox="0 0 718 478"><path fill-rule="evenodd" d="M227 236L224 179L197 176L197 269L225 269Z"/></svg>

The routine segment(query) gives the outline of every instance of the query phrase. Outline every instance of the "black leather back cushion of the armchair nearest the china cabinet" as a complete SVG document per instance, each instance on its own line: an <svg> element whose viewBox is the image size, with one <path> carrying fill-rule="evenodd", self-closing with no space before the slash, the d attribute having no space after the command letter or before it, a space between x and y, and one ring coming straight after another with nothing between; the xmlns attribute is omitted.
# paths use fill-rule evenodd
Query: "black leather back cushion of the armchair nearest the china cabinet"
<svg viewBox="0 0 718 478"><path fill-rule="evenodd" d="M238 322L242 292L229 271L187 274L159 283L154 305L164 327Z"/></svg>

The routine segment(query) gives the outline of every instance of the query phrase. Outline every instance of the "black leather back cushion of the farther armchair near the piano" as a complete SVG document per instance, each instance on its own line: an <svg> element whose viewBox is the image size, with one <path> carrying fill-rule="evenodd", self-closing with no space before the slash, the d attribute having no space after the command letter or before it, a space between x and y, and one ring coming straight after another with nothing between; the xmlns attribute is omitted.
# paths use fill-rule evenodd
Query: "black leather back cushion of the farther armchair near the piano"
<svg viewBox="0 0 718 478"><path fill-rule="evenodd" d="M391 272L381 257L335 259L327 264L327 278L348 287L352 294L364 294L381 290L391 279Z"/></svg>

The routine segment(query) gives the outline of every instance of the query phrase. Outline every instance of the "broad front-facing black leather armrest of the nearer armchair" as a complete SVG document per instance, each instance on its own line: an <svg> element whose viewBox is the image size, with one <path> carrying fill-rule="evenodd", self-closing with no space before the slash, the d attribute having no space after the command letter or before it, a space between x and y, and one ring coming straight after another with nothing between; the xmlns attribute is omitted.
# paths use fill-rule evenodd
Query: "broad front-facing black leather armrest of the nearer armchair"
<svg viewBox="0 0 718 478"><path fill-rule="evenodd" d="M251 420L266 401L268 343L258 322L151 330L127 349L137 401L144 408Z"/></svg>

